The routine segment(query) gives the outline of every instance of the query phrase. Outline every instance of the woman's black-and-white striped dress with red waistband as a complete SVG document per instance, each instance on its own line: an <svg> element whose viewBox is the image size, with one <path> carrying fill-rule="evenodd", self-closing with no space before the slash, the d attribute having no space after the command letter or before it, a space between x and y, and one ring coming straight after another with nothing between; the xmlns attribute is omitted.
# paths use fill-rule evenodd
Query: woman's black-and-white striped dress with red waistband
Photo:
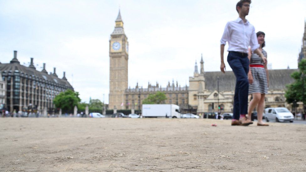
<svg viewBox="0 0 306 172"><path fill-rule="evenodd" d="M267 52L262 50L262 54L267 57ZM252 53L250 65L264 65L263 61L256 53ZM266 69L264 67L250 67L252 76L253 76L253 83L249 84L249 94L252 93L261 93L267 94L268 93L268 81L267 81L267 74Z"/></svg>

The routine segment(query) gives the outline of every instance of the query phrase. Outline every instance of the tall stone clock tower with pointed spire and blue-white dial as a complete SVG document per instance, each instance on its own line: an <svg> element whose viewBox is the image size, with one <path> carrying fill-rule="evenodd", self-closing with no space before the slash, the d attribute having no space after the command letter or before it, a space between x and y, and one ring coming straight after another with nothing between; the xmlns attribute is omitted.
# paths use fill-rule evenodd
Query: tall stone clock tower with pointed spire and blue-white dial
<svg viewBox="0 0 306 172"><path fill-rule="evenodd" d="M109 40L109 108L124 109L124 91L128 88L129 43L124 34L120 10Z"/></svg>

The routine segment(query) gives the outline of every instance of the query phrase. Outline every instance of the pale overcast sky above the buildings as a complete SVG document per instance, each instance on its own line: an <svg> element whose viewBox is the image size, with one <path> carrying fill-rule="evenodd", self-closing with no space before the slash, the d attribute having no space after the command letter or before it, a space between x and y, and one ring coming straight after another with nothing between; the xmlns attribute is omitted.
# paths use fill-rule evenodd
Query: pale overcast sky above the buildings
<svg viewBox="0 0 306 172"><path fill-rule="evenodd" d="M0 62L13 50L37 69L61 78L63 71L82 102L108 103L109 39L119 7L129 41L129 86L156 81L189 85L203 53L204 70L220 70L220 38L227 21L238 18L237 0L0 0ZM305 0L254 0L247 19L266 33L272 69L297 68ZM227 46L225 47L227 50ZM225 57L227 52L225 53ZM231 70L226 62L226 70Z"/></svg>

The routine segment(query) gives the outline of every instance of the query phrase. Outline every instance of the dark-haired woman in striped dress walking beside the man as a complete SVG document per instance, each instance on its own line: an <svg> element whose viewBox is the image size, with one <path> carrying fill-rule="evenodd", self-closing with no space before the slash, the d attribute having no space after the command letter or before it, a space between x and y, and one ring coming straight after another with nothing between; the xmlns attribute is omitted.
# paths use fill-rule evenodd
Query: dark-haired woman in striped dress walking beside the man
<svg viewBox="0 0 306 172"><path fill-rule="evenodd" d="M258 43L260 44L259 50L267 57L267 52L262 48L265 47L265 33L259 31L256 33ZM251 119L251 113L255 107L257 111L257 125L268 126L262 121L262 114L265 106L265 95L268 93L269 75L266 64L256 54L251 53L249 50L248 58L250 60L250 70L248 73L249 79L249 94L252 94L253 99L250 102L248 109L248 118Z"/></svg>

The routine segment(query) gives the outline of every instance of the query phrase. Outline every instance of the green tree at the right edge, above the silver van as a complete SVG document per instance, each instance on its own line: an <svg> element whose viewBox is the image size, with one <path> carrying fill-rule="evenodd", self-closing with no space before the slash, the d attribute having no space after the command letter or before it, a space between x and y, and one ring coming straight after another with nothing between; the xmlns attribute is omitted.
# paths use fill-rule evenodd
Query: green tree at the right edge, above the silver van
<svg viewBox="0 0 306 172"><path fill-rule="evenodd" d="M297 107L297 102L306 104L306 59L298 63L299 71L293 72L291 77L295 80L292 84L287 85L285 92L286 102L293 103L293 107Z"/></svg>

